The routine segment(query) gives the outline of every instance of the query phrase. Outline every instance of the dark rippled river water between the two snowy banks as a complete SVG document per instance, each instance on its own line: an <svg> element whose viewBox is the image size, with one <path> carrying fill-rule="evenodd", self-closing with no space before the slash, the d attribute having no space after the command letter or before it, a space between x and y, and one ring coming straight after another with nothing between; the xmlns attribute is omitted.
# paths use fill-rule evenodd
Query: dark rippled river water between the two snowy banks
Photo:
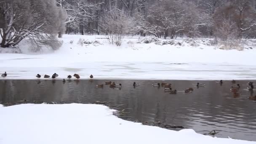
<svg viewBox="0 0 256 144"><path fill-rule="evenodd" d="M107 80L105 80L107 81ZM108 80L109 81L109 80ZM248 91L248 81L237 81L241 85L238 93L230 92L231 81L222 85L215 81L201 81L204 87L196 87L197 81L137 80L139 87L133 88L133 80L111 80L122 83L121 89L108 85L96 88L104 80L0 80L0 102L6 106L22 103L95 103L119 110L119 117L147 125L167 125L192 128L197 133L218 132L215 136L256 141L256 99ZM171 83L177 94L169 94L163 88L153 88L153 83ZM192 93L184 93L192 87ZM168 127L170 128L170 127ZM172 128L180 130L180 128Z"/></svg>

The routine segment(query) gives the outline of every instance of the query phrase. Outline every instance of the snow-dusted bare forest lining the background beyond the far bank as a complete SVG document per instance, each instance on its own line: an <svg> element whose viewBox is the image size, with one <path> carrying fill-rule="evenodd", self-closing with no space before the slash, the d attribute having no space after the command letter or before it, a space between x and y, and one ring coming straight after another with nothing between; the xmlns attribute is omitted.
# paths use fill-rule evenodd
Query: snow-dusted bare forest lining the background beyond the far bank
<svg viewBox="0 0 256 144"><path fill-rule="evenodd" d="M256 38L256 0L0 0L0 46L29 38L52 45L54 35ZM118 43L118 44L117 44Z"/></svg>

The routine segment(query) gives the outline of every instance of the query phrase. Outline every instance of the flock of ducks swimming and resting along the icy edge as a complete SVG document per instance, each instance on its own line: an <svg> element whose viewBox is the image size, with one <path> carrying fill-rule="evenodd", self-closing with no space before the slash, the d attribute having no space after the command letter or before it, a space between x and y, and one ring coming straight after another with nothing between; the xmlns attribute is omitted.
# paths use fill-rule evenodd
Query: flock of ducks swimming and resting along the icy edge
<svg viewBox="0 0 256 144"><path fill-rule="evenodd" d="M56 77L58 77L58 76L59 76L58 74L54 73L54 74L51 76L51 78L54 80L54 79L55 79ZM7 73L6 73L6 72L3 73L3 74L1 75L1 77L7 77ZM41 75L40 75L40 74L37 74L36 77L37 77L37 78L41 78ZM73 77L75 77L75 78L77 78L77 79L80 79L80 75L78 75L78 74L74 74ZM92 78L93 78L93 75L90 75L89 77L92 79ZM50 78L50 75L44 75L44 78ZM71 76L71 75L68 75L67 78L68 78L68 79L71 79L72 76ZM66 82L65 79L63 79L62 81L63 81L63 82ZM222 85L223 80L217 80L216 83L220 83L220 85ZM238 93L238 91L239 91L239 89L240 89L240 84L235 84L235 83L236 83L236 81L235 81L235 80L232 80L232 85L231 85L230 91L233 93L233 96L236 97L236 96L239 96L239 95L240 95L240 93ZM121 83L120 83L120 84L115 84L115 82L112 83L111 81L109 81L109 82L104 82L104 84L105 84L105 85L109 85L109 88L121 88L121 87L122 87L122 84L121 84ZM104 84L98 84L98 85L96 85L96 87L97 87L97 88L103 88ZM134 87L134 88L135 88L135 87L138 87L139 85L140 85L139 83L133 82L133 87ZM160 86L162 86L162 87L164 88L164 89L163 89L164 92L168 92L168 93L170 93L170 94L176 94L176 93L177 93L177 90L176 90L176 89L175 89L175 90L172 89L171 83L161 83L161 85L160 85L160 83L152 84L152 87L160 88ZM204 84L204 83L197 83L196 86L197 86L197 88L198 88L198 87L200 87L200 86L205 86L205 84ZM248 82L248 90L252 92L252 91L253 91L253 88L254 88L253 82ZM184 90L185 93L191 93L192 91L194 91L193 88L187 88L187 89ZM256 96L249 96L248 98L249 98L249 99L255 99L255 100L256 100Z"/></svg>

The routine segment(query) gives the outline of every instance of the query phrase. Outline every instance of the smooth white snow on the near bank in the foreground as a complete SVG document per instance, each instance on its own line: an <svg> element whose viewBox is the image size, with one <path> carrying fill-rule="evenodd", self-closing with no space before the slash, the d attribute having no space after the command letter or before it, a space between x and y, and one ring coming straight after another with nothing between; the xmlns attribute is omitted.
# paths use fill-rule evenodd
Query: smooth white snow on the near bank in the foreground
<svg viewBox="0 0 256 144"><path fill-rule="evenodd" d="M0 144L255 144L141 125L97 104L0 105Z"/></svg>

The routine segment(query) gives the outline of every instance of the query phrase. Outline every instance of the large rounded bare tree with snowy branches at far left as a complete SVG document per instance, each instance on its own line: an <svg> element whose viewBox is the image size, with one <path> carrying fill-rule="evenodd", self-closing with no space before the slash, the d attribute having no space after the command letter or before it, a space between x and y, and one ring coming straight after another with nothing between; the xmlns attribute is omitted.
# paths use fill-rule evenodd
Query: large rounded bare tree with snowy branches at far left
<svg viewBox="0 0 256 144"><path fill-rule="evenodd" d="M43 42L58 31L60 10L52 0L0 0L3 48L14 47L24 38Z"/></svg>

